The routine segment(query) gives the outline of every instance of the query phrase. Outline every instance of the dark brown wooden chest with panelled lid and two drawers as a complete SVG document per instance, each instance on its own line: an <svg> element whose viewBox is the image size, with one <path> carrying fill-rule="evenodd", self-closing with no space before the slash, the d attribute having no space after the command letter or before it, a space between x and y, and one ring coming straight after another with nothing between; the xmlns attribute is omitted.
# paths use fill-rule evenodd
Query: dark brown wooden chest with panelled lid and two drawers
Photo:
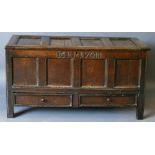
<svg viewBox="0 0 155 155"><path fill-rule="evenodd" d="M13 36L6 46L8 117L15 105L135 106L143 119L149 50L135 38Z"/></svg>

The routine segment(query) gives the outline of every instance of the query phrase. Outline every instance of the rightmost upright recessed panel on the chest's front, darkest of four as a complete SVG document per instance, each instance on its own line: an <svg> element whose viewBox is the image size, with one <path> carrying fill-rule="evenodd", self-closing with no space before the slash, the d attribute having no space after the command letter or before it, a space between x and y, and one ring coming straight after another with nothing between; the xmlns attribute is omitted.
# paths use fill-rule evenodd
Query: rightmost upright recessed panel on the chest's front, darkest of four
<svg viewBox="0 0 155 155"><path fill-rule="evenodd" d="M115 86L138 87L140 80L140 60L116 60Z"/></svg>

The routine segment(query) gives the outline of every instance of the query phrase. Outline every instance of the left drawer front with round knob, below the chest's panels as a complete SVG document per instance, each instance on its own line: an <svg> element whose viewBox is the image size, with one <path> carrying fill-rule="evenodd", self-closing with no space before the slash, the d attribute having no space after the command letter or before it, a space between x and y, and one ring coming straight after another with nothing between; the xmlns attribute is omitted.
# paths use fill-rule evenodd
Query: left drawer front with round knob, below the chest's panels
<svg viewBox="0 0 155 155"><path fill-rule="evenodd" d="M72 95L17 95L16 104L43 107L71 107Z"/></svg>

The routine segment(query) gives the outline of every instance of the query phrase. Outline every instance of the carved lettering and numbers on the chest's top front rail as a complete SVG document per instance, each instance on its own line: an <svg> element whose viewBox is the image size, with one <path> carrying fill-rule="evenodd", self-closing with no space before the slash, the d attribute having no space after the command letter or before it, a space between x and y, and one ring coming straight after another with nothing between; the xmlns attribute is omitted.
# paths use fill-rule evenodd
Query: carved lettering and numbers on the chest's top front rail
<svg viewBox="0 0 155 155"><path fill-rule="evenodd" d="M56 52L57 58L100 59L100 52Z"/></svg>

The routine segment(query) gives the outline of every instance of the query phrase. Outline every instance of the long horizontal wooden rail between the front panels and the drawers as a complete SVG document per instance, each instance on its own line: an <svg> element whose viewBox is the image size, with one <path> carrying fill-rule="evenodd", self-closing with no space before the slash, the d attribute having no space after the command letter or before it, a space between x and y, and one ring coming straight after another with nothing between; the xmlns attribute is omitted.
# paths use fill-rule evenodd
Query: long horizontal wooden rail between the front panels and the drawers
<svg viewBox="0 0 155 155"><path fill-rule="evenodd" d="M110 89L110 88L95 88L95 89L90 89L90 88L70 88L70 87L63 87L59 89L57 87L12 87L12 91L14 93L35 93L37 92L38 94L50 94L50 93L62 93L62 94L107 94L107 95L124 95L124 94L138 94L139 88L123 88L123 89Z"/></svg>

